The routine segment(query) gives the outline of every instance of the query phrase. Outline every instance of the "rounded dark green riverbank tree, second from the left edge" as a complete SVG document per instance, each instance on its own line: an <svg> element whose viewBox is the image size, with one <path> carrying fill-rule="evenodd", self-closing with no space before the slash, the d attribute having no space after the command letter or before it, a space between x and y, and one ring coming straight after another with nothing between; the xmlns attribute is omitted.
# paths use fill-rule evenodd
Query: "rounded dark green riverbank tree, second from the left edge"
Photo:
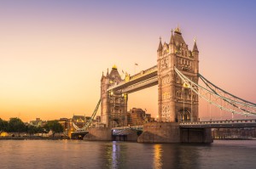
<svg viewBox="0 0 256 169"><path fill-rule="evenodd" d="M20 136L20 132L25 132L26 126L19 118L10 118L8 130L8 132L18 132Z"/></svg>

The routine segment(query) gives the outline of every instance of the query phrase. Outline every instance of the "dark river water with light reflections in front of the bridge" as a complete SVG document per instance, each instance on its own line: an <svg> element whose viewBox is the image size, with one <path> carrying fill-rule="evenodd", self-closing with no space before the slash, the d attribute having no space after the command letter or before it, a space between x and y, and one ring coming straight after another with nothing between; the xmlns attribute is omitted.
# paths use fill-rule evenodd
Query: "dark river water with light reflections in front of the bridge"
<svg viewBox="0 0 256 169"><path fill-rule="evenodd" d="M0 168L256 168L256 140L137 144L0 140Z"/></svg>

